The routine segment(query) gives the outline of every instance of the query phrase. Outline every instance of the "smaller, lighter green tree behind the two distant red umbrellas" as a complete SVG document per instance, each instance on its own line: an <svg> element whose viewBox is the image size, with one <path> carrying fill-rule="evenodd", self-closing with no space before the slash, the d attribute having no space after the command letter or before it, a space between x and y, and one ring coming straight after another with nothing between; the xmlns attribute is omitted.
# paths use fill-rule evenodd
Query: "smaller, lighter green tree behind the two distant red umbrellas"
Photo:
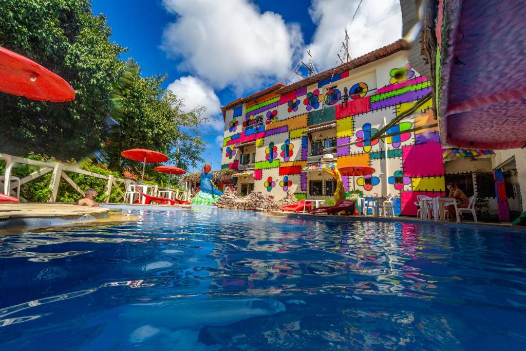
<svg viewBox="0 0 526 351"><path fill-rule="evenodd" d="M152 149L167 154L170 162L181 168L203 162L200 157L204 142L199 135L201 115L205 108L183 112L183 103L161 85L166 76L141 77L139 66L130 61L123 78L114 88L114 125L105 148L109 168L122 171L123 167L140 169L141 164L120 156L130 148ZM167 177L147 164L150 178L166 183Z"/></svg>

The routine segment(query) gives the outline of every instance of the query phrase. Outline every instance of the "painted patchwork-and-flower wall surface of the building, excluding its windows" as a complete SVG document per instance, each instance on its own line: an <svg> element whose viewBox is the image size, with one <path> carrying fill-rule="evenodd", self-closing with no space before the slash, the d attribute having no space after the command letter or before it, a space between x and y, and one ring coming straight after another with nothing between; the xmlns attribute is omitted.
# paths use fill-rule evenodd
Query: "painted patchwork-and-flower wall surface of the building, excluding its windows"
<svg viewBox="0 0 526 351"><path fill-rule="evenodd" d="M337 145L367 139L386 122L410 108L430 92L427 79L407 64L403 52L331 78L279 95L271 93L226 111L222 166L241 169L240 145L255 142L254 189L281 199L288 189L308 198L309 182L319 172L304 172L313 161L311 141L337 138ZM346 99L345 92L350 95ZM422 106L388 133L430 124L431 105ZM336 122L336 128L307 136L313 125ZM332 134L331 134L332 133ZM402 133L381 141L341 146L338 165L366 165L376 169L370 177L344 177L345 187L366 196L399 195L401 213L415 215L416 196L444 195L444 167L438 129ZM316 158L316 159L319 159Z"/></svg>

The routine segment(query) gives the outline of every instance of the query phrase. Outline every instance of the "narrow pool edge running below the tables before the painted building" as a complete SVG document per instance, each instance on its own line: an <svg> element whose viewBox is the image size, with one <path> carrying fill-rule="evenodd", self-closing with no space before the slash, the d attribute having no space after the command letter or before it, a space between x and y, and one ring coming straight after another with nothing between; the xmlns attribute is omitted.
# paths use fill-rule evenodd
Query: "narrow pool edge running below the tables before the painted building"
<svg viewBox="0 0 526 351"><path fill-rule="evenodd" d="M298 212L282 212L272 211L272 215L290 217L290 218L319 218L325 220L335 220L340 222L353 222L355 220L373 221L373 222L400 222L412 224L427 224L427 225L441 225L450 226L452 228L459 226L468 226L473 229L491 229L509 230L510 232L518 232L526 234L526 227L512 226L508 223L485 223L485 222L446 222L443 220L422 220L413 217L376 217L376 216L345 216L345 215L317 215L313 213L298 213Z"/></svg>

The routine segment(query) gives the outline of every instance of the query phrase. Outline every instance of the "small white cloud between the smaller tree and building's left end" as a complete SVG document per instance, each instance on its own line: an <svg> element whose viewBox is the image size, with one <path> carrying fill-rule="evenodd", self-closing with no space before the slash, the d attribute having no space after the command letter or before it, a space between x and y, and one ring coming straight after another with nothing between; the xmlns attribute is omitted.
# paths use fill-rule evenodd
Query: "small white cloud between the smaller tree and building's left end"
<svg viewBox="0 0 526 351"><path fill-rule="evenodd" d="M223 131L224 122L221 115L221 103L214 89L207 86L201 79L193 76L185 76L176 79L168 85L168 89L183 99L184 111L190 111L196 107L206 107L204 116L207 118L204 125L213 131Z"/></svg>

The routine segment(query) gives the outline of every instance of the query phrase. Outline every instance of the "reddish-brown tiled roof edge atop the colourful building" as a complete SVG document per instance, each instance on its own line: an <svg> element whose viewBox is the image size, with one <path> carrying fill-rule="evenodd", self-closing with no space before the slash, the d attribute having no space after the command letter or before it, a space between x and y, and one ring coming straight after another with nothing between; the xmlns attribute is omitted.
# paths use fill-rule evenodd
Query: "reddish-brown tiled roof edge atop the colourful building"
<svg viewBox="0 0 526 351"><path fill-rule="evenodd" d="M357 58L353 59L352 61L349 61L349 62L343 63L343 64L341 64L339 66L327 69L327 71L323 71L323 72L318 73L316 75L313 75L311 77L308 77L308 78L305 78L305 79L301 79L301 81L299 81L299 82L292 83L292 84L287 85L287 86L279 83L279 84L273 85L271 87L268 87L268 88L266 88L266 89L264 89L264 90L262 90L260 92L252 94L250 96L247 96L247 97L244 97L244 98L239 98L239 99L237 99L235 101L232 101L231 103L221 107L221 111L223 113L223 119L225 119L226 110L231 108L231 107L238 106L238 105L240 105L242 103L245 103L245 102L257 99L258 97L266 95L268 93L276 93L276 94L280 94L280 95L290 93L292 91L295 91L296 89L299 89L299 88L302 88L302 87L305 87L305 86L308 86L308 85L311 85L311 84L323 81L323 79L330 78L333 75L337 75L337 74L340 74L342 72L350 71L351 69L355 69L355 68L358 68L360 66L367 65L367 64L369 64L371 62L375 62L375 61L377 61L377 60L379 60L381 58L384 58L384 57L387 57L389 55L392 55L392 54L394 54L394 53L396 53L398 51L409 49L409 47L410 46L409 46L409 44L406 43L406 41L404 41L403 39L398 39L398 41L396 41L396 42L394 42L392 44L383 46L383 47L381 47L379 49L376 49L375 51L371 51L370 53L362 55L360 57L357 57Z"/></svg>

